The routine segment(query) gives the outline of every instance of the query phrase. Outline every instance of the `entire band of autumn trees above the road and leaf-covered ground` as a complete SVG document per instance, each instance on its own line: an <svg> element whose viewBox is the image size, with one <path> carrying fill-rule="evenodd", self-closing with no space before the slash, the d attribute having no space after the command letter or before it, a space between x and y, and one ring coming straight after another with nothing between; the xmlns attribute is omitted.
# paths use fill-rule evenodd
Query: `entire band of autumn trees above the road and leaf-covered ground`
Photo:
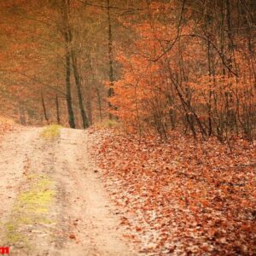
<svg viewBox="0 0 256 256"><path fill-rule="evenodd" d="M1 4L0 91L23 123L255 137L253 1Z"/></svg>

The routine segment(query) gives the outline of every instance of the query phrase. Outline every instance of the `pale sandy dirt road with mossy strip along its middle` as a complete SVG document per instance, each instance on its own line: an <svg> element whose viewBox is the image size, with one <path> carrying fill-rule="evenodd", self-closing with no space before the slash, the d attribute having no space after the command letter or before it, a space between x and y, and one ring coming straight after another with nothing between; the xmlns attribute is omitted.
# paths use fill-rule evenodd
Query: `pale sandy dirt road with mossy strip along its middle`
<svg viewBox="0 0 256 256"><path fill-rule="evenodd" d="M87 155L86 131L42 131L1 143L0 247L19 256L135 255Z"/></svg>

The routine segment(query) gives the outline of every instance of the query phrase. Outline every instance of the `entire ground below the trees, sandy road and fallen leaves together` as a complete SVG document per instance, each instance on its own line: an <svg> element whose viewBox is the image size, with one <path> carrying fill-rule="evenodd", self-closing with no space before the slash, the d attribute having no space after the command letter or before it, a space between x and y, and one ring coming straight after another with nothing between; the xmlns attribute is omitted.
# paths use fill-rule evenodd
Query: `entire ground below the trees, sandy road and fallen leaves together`
<svg viewBox="0 0 256 256"><path fill-rule="evenodd" d="M14 126L0 122L10 255L256 253L255 142Z"/></svg>

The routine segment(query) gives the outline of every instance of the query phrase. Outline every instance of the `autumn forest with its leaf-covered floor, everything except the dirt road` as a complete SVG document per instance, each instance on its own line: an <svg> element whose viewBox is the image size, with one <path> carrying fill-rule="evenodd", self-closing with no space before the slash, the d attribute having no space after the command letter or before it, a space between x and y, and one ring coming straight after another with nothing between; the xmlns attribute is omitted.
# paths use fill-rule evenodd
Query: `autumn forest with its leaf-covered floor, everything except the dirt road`
<svg viewBox="0 0 256 256"><path fill-rule="evenodd" d="M255 1L1 1L1 137L45 125L87 132L134 255L256 253Z"/></svg>

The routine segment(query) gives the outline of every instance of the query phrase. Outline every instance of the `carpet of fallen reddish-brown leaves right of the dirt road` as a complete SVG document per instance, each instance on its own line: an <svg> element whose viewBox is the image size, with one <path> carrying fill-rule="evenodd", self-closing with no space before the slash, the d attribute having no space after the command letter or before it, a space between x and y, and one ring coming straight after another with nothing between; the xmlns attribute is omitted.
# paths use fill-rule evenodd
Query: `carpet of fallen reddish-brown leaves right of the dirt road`
<svg viewBox="0 0 256 256"><path fill-rule="evenodd" d="M125 236L141 253L256 253L256 144L90 129Z"/></svg>

